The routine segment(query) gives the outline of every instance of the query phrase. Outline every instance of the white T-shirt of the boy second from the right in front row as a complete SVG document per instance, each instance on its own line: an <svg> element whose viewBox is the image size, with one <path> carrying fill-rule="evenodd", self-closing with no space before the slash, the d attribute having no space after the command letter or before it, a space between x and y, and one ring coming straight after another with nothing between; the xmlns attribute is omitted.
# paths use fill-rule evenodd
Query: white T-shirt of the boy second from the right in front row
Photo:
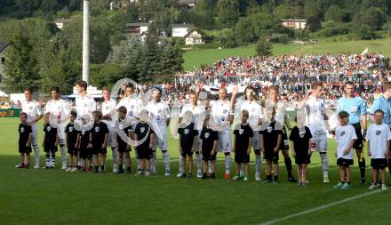
<svg viewBox="0 0 391 225"><path fill-rule="evenodd" d="M353 151L344 156L344 151L349 147L351 141L356 140L355 127L353 125L341 125L335 130L335 141L337 141L337 158L353 159Z"/></svg>

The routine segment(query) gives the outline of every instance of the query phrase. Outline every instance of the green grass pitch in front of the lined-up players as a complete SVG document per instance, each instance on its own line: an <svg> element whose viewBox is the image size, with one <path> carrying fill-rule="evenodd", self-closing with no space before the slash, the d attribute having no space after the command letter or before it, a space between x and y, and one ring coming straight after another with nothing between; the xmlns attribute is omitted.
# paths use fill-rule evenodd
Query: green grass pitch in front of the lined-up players
<svg viewBox="0 0 391 225"><path fill-rule="evenodd" d="M314 155L309 169L310 184L301 188L286 181L283 161L278 185L254 181L253 160L250 182L224 181L221 156L215 181L176 178L178 143L172 139L169 140L172 177L164 177L160 154L158 174L150 178L130 174L66 173L60 169L15 170L13 166L20 162L16 148L17 125L16 118L0 118L2 225L260 224L311 209L315 211L276 224L389 224L389 191L371 193L368 185L361 186L356 165L352 189L332 188L339 181L333 157L334 141L329 145L331 183L323 184L319 156ZM41 127L40 124L40 130ZM111 159L108 165L110 163ZM41 164L44 165L44 157ZM371 180L369 175L367 173L368 181ZM366 193L371 194L359 196ZM330 205L348 197L360 198ZM316 208L319 206L322 207Z"/></svg>

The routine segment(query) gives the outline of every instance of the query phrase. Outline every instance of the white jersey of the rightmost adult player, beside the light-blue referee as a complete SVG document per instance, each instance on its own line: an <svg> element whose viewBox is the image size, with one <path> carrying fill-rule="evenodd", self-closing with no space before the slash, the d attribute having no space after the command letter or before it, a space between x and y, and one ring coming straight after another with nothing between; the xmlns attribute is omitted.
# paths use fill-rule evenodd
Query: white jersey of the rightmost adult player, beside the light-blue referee
<svg viewBox="0 0 391 225"><path fill-rule="evenodd" d="M306 125L311 133L327 133L324 122L325 101L309 96L306 101Z"/></svg>

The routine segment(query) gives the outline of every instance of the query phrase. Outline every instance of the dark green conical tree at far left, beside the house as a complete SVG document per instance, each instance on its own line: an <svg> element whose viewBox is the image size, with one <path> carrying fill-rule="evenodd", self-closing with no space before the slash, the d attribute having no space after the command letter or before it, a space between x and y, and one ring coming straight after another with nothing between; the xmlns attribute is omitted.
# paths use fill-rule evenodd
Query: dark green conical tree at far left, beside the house
<svg viewBox="0 0 391 225"><path fill-rule="evenodd" d="M18 30L7 49L4 84L8 92L23 92L25 86L39 87L38 62L28 36Z"/></svg>

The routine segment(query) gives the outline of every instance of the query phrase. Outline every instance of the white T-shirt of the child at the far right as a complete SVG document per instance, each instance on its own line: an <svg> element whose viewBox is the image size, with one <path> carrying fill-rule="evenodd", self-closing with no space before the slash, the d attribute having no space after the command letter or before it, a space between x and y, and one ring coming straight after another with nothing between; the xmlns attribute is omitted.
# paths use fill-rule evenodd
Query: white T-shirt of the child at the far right
<svg viewBox="0 0 391 225"><path fill-rule="evenodd" d="M366 138L370 141L371 158L385 158L387 141L391 140L388 125L370 125Z"/></svg>

